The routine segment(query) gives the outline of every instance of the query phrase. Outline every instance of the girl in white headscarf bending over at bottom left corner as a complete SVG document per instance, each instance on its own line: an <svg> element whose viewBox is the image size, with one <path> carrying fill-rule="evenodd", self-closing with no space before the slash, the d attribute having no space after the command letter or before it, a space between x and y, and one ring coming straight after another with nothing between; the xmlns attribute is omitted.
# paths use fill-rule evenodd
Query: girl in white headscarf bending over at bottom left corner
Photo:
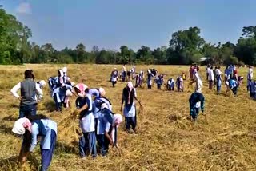
<svg viewBox="0 0 256 171"><path fill-rule="evenodd" d="M12 132L23 135L22 148L19 153L19 161L25 162L26 157L37 145L38 137L41 137L41 169L46 171L52 160L57 139L57 123L44 115L28 116L15 121Z"/></svg>

